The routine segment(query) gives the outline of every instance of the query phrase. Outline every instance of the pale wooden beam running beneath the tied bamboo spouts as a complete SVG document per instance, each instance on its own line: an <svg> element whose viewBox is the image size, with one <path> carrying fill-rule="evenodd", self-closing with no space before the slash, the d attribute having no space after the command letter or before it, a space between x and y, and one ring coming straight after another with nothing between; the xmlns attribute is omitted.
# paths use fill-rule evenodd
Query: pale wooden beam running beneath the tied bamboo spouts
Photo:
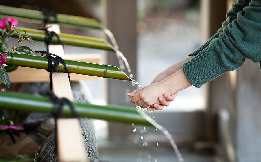
<svg viewBox="0 0 261 162"><path fill-rule="evenodd" d="M59 24L47 24L48 31L60 32ZM64 57L63 45L48 45L49 52ZM52 73L52 92L58 98L73 101L70 80L66 73ZM56 119L57 156L61 162L86 161L84 145L82 143L80 121L78 118ZM87 159L88 160L88 159Z"/></svg>

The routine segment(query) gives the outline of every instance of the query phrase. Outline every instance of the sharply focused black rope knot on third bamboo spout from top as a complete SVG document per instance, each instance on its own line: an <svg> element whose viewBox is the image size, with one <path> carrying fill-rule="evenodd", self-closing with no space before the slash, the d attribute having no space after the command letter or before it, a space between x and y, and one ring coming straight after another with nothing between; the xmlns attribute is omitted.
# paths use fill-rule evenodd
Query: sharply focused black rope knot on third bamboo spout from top
<svg viewBox="0 0 261 162"><path fill-rule="evenodd" d="M67 66L66 66L63 58L61 58L55 54L52 54L50 52L46 52L46 51L36 51L35 50L35 53L41 53L41 56L44 56L44 54L46 54L45 57L47 57L47 60L48 60L48 67L47 67L46 71L48 71L50 73L50 91L52 91L52 73L66 73L66 74L68 74L68 78L70 80L69 71L67 69ZM55 56L55 57L53 57L53 56ZM53 60L53 63L52 63L52 60ZM59 65L59 61L64 66L65 71L55 70L55 68Z"/></svg>

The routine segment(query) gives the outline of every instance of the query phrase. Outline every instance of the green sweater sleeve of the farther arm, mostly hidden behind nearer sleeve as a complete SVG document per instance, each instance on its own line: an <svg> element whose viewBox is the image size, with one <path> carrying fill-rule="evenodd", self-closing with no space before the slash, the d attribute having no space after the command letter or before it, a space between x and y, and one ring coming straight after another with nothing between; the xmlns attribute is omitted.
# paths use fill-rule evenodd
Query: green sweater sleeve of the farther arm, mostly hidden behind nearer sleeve
<svg viewBox="0 0 261 162"><path fill-rule="evenodd" d="M231 6L231 10L229 10L226 14L226 21L222 23L222 27L218 30L216 34L214 34L208 41L206 41L202 46L197 48L195 51L193 51L189 56L196 56L198 53L200 53L204 48L206 48L209 43L215 39L218 38L218 35L223 32L223 29L226 25L231 23L234 19L237 17L237 13L242 11L244 7L248 6L249 0L238 0L237 3L233 3Z"/></svg>

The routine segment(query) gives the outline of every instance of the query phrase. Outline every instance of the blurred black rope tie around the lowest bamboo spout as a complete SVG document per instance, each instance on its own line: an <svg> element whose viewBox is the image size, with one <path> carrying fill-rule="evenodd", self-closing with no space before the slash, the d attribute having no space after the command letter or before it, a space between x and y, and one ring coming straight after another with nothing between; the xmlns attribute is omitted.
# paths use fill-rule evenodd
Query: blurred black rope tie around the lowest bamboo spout
<svg viewBox="0 0 261 162"><path fill-rule="evenodd" d="M78 118L78 115L76 113L76 111L74 110L73 104L70 100L68 100L67 98L61 98L59 99L56 95L54 95L53 93L49 94L50 98L54 101L54 108L52 111L52 114L56 117L59 118L61 116L61 111L63 109L63 106L67 103L73 113L73 117Z"/></svg>

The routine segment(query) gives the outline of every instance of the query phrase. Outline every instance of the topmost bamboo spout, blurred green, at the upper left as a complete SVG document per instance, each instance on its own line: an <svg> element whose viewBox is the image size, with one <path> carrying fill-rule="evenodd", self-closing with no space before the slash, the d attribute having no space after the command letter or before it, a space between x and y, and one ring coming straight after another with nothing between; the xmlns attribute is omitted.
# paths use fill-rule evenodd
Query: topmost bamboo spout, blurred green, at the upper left
<svg viewBox="0 0 261 162"><path fill-rule="evenodd" d="M37 10L28 10L23 8L15 8L0 5L0 14L7 16L16 16L28 19L44 20L44 12ZM82 27L91 27L96 29L103 29L104 27L95 19L90 19L80 16L71 16L66 14L56 14L59 23L76 25ZM53 16L50 16L50 23L55 23Z"/></svg>

